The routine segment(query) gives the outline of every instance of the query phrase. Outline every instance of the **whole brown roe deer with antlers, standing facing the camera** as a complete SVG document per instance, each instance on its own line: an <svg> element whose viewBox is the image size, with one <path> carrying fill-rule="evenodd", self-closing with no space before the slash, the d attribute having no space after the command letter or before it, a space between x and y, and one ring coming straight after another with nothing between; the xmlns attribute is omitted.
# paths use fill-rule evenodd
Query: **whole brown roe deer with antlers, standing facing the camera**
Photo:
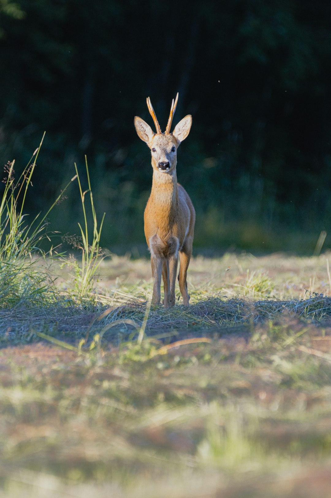
<svg viewBox="0 0 331 498"><path fill-rule="evenodd" d="M164 307L174 306L175 281L180 259L179 288L184 304L189 304L187 292L187 269L192 254L195 211L190 197L177 183L177 148L187 137L192 124L192 116L185 116L170 132L178 101L172 101L168 124L164 133L155 116L150 98L147 107L156 126L156 133L141 118L134 118L134 126L139 138L147 143L152 153L153 182L144 212L144 230L148 249L151 253L153 276L152 303L161 300L161 275L163 277Z"/></svg>

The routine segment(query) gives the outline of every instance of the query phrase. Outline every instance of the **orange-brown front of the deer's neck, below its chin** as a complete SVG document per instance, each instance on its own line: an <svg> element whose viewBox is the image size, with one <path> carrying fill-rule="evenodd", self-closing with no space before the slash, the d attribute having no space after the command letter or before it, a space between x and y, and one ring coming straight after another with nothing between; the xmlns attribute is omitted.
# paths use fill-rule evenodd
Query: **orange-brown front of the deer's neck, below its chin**
<svg viewBox="0 0 331 498"><path fill-rule="evenodd" d="M159 228L163 228L165 232L170 231L179 202L176 169L171 173L153 170L151 198Z"/></svg>

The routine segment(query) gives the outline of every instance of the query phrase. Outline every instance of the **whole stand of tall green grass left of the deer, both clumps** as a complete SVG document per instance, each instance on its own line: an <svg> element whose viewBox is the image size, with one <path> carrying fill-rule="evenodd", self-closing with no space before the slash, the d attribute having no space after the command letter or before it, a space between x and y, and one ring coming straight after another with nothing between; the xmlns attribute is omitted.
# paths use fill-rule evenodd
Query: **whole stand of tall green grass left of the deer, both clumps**
<svg viewBox="0 0 331 498"><path fill-rule="evenodd" d="M100 236L105 214L98 227L96 210L93 203L89 168L85 156L88 189L83 192L81 179L75 164L76 175L61 191L46 213L39 213L31 222L24 212L25 200L30 193L32 174L44 139L34 151L27 166L15 179L15 161L8 162L4 167L4 189L0 202L0 306L12 307L24 303L25 306L49 305L55 301L64 300L75 304L91 304L95 300L94 277L97 275L100 263L106 257L100 249ZM60 246L53 247L54 233L48 230L47 217L53 208L63 198L65 191L74 180L78 181L81 205L83 208L84 225L78 223L81 238L74 240L76 249L80 251L80 264L76 257L59 253ZM90 210L93 223L92 238L88 230L88 214L85 207L85 195L90 197ZM92 239L92 240L91 240ZM45 241L49 249L45 251ZM47 258L47 260L46 260ZM50 271L53 262L61 262L62 267L73 269L73 278L66 293L59 292L54 284ZM66 299L64 299L66 298Z"/></svg>

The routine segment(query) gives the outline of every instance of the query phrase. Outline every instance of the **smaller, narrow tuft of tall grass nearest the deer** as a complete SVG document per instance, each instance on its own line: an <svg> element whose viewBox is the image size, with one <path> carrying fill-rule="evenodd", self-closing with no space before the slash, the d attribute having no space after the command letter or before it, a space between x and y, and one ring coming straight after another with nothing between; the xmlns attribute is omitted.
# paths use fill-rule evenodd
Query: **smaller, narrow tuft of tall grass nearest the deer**
<svg viewBox="0 0 331 498"><path fill-rule="evenodd" d="M78 226L81 231L81 244L79 245L79 249L81 250L81 261L79 264L78 260L72 256L70 259L64 259L62 263L62 266L70 265L74 270L73 285L72 288L69 290L69 295L75 302L78 302L80 304L96 301L96 293L94 292L95 277L98 274L101 262L105 259L105 257L107 257L107 254L105 254L100 248L100 236L106 213L104 213L100 223L100 227L98 227L97 215L93 202L90 174L89 174L89 168L86 156L85 156L85 166L86 166L86 174L87 174L88 187L89 187L88 190L85 190L83 192L76 163L75 163L76 175L73 178L73 180L76 178L78 180L79 192L81 196L81 203L84 215L83 227L80 223L78 223ZM89 243L88 218L85 206L85 195L87 193L90 193L90 205L91 205L92 220L93 220L93 236L91 244Z"/></svg>

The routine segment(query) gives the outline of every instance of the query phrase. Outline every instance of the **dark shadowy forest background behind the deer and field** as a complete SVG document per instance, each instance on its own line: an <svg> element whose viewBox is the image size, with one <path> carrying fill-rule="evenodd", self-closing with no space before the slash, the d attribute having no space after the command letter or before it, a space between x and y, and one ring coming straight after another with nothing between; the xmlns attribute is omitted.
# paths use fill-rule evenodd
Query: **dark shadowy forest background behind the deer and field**
<svg viewBox="0 0 331 498"><path fill-rule="evenodd" d="M0 0L0 156L19 172L46 137L30 215L87 154L102 244L145 253L150 153L133 127L192 114L178 179L195 253L313 252L331 221L331 2ZM78 187L51 229L78 233ZM331 239L326 239L324 249Z"/></svg>

